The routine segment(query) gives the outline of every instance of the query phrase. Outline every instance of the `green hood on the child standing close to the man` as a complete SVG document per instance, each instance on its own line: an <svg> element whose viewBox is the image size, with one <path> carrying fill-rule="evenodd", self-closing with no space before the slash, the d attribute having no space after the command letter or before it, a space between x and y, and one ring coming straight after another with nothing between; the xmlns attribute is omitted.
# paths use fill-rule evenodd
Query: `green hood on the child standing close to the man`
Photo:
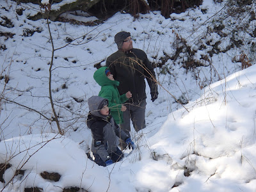
<svg viewBox="0 0 256 192"><path fill-rule="evenodd" d="M95 73L93 74L93 79L100 85L119 85L119 81L111 81L105 74L105 71L108 67L100 67Z"/></svg>

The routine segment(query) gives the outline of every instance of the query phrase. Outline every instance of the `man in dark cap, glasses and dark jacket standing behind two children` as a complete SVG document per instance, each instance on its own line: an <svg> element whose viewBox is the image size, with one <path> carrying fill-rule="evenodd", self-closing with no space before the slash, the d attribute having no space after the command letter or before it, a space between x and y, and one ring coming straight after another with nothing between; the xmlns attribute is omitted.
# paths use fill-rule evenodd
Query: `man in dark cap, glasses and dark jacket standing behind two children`
<svg viewBox="0 0 256 192"><path fill-rule="evenodd" d="M106 61L106 67L109 67L111 74L116 81L120 82L118 91L120 95L131 91L132 97L126 104L127 110L123 113L124 123L121 124L124 130L130 136L130 118L135 131L145 128L145 77L150 87L151 100L157 99L157 84L154 68L148 61L147 54L132 47L131 33L121 31L115 35L115 43L118 51L111 54ZM124 144L124 143L123 143ZM125 147L125 146L124 146Z"/></svg>

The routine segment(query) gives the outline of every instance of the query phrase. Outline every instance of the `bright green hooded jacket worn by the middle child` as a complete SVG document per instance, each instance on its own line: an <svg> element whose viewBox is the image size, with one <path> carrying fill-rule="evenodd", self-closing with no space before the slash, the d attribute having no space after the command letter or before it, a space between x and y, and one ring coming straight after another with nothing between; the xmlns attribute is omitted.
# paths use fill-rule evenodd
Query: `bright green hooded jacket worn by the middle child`
<svg viewBox="0 0 256 192"><path fill-rule="evenodd" d="M101 86L99 97L108 99L108 107L111 110L111 115L113 116L116 124L122 124L123 113L121 111L121 108L122 103L124 103L127 100L127 97L125 94L119 94L117 89L119 82L112 81L106 76L105 70L107 68L108 67L100 67L93 74L93 78Z"/></svg>

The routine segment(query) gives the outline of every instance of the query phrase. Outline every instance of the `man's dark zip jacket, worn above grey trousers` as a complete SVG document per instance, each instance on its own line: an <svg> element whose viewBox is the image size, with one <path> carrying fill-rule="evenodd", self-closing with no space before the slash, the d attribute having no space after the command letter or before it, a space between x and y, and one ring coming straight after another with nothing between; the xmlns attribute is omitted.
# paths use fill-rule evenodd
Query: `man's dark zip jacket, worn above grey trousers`
<svg viewBox="0 0 256 192"><path fill-rule="evenodd" d="M151 93L157 92L157 84L154 68L148 61L147 54L140 49L131 49L131 51L116 51L111 54L106 61L106 67L109 67L116 81L120 82L118 91L120 95L131 92L130 103L139 103L146 99L145 77L150 87Z"/></svg>

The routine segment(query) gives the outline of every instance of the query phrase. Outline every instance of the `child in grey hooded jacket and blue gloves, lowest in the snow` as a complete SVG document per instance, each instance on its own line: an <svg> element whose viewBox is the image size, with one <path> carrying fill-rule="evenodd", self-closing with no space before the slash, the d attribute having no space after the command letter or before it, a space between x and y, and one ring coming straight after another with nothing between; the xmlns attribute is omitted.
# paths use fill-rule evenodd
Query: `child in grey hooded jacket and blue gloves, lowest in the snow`
<svg viewBox="0 0 256 192"><path fill-rule="evenodd" d="M92 96L88 99L90 109L87 117L87 126L92 131L92 152L95 163L101 166L120 161L124 154L116 146L116 136L127 143L128 147L135 148L131 138L118 127L109 113L108 99Z"/></svg>

